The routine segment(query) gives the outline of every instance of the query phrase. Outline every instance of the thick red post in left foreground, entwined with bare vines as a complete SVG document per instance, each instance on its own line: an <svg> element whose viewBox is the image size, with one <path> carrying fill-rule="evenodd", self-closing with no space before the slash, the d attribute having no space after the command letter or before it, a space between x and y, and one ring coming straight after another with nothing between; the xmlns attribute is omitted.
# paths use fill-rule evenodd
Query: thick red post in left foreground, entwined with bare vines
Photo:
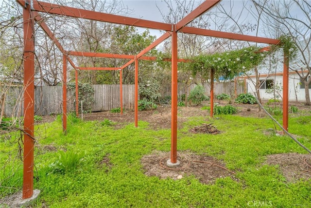
<svg viewBox="0 0 311 208"><path fill-rule="evenodd" d="M23 7L24 27L24 167L22 198L34 193L35 34L30 0Z"/></svg>

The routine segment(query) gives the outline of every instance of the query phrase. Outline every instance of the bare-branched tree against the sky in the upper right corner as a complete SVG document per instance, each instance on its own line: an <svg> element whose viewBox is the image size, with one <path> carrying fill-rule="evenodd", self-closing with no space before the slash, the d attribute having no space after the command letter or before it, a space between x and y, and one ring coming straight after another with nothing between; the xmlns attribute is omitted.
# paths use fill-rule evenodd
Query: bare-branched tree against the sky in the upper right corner
<svg viewBox="0 0 311 208"><path fill-rule="evenodd" d="M259 0L254 1L265 16L266 22L272 31L280 27L280 33L292 37L298 49L296 60L290 64L290 69L300 77L305 88L306 105L310 105L309 86L311 83L311 4L308 0L278 1Z"/></svg>

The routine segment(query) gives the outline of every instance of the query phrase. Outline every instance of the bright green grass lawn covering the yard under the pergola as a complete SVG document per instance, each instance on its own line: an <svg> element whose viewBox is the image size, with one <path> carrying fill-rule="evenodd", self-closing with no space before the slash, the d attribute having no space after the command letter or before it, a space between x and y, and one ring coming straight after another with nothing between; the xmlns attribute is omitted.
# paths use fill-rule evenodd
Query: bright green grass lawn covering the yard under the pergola
<svg viewBox="0 0 311 208"><path fill-rule="evenodd" d="M307 153L288 136L267 134L274 124L269 118L219 115L219 119L190 117L178 130L177 150L207 154L222 160L237 173L202 184L193 175L180 180L146 176L141 158L153 151L170 151L170 129L152 130L148 123L139 128L129 124L121 129L109 122L81 121L69 117L68 134L63 135L61 119L36 126L35 189L40 198L35 207L278 207L309 208L311 180L286 181L279 166L264 165L265 156L276 153ZM209 120L209 121L208 121ZM278 120L281 120L280 118ZM291 116L289 132L311 149L311 116ZM201 123L213 123L220 134L189 132ZM0 141L0 196L22 187L22 162L14 159L15 135ZM45 147L45 148L44 148ZM62 170L59 151L66 150L68 170ZM77 153L77 154L74 154ZM84 153L84 154L83 154ZM82 158L79 160L79 155ZM102 163L103 158L109 164ZM64 159L66 160L66 158ZM53 164L53 165L51 165ZM1 206L0 206L1 207Z"/></svg>

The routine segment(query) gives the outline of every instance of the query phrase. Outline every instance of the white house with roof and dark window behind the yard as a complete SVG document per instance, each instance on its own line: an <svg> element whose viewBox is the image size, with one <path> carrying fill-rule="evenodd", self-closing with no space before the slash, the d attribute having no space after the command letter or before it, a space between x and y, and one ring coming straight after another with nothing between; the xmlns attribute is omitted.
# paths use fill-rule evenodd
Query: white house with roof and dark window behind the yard
<svg viewBox="0 0 311 208"><path fill-rule="evenodd" d="M298 42L299 48L303 52L298 51L294 60L289 64L289 100L290 101L306 101L305 85L300 79L300 76L294 71L297 70L302 76L308 74L306 63L310 66L311 59L311 44L306 47L304 41ZM304 54L304 57L302 56ZM278 60L283 60L283 52L276 52L275 56ZM267 58L261 66L259 66L259 83L260 83L260 98L262 99L282 99L282 85L283 85L283 63L282 61L273 61L272 58ZM255 83L256 76L254 73L249 73L248 76L239 77L239 79L246 80L247 92L254 94L256 92ZM308 76L310 79L311 76ZM311 95L311 84L309 84L309 94ZM276 97L275 97L276 96Z"/></svg>

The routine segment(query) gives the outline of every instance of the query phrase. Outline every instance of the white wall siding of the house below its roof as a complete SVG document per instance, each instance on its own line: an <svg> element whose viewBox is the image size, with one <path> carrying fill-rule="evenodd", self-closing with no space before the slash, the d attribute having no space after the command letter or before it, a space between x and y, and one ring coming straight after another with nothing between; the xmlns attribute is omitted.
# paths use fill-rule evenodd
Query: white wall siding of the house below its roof
<svg viewBox="0 0 311 208"><path fill-rule="evenodd" d="M266 76L260 76L260 80L261 79L265 79ZM256 80L255 77L252 77L253 80ZM281 83L283 85L283 76L282 75L278 75L278 76L269 76L267 79L274 79L274 83L276 83L276 81L278 83ZM255 86L252 83L251 80L246 79L247 80L247 85L248 85L248 93L254 94L255 92ZM300 89L300 85L298 85L297 90L296 90L296 95L295 95L295 87L297 86L297 84L300 83L300 78L297 74L290 74L289 75L289 89L288 89L288 93L289 93L289 100L290 101L296 101L296 95L297 95L297 101L306 101L305 98L305 89ZM260 97L262 99L271 99L274 98L273 95L269 95L265 92L265 89L259 89L260 92ZM309 89L309 93L311 95L311 89ZM281 92L281 95L283 96L283 92ZM281 100L281 98L279 98L279 100Z"/></svg>

